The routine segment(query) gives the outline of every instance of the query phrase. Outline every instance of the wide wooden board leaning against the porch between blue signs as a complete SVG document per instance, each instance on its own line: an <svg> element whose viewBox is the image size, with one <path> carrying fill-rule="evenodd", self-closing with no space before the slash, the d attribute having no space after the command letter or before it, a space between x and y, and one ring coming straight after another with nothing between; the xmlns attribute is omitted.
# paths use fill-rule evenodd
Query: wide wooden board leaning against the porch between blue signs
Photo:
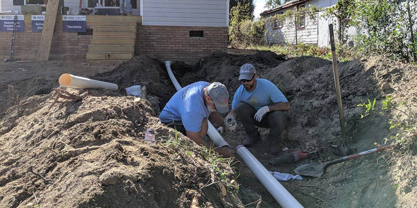
<svg viewBox="0 0 417 208"><path fill-rule="evenodd" d="M51 50L53 29L55 27L59 0L49 0L46 7L41 41L39 42L38 61L47 61Z"/></svg>

